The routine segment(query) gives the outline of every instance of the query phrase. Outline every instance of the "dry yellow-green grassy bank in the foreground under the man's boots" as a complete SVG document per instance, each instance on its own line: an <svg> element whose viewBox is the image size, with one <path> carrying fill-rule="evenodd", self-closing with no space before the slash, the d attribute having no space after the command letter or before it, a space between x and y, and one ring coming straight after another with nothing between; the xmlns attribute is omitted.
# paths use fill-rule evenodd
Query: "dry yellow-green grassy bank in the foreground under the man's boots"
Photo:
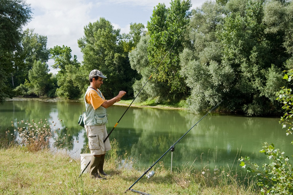
<svg viewBox="0 0 293 195"><path fill-rule="evenodd" d="M107 154L105 172L112 177L107 180L91 179L88 173L80 174L80 159L72 159L64 152L52 152L43 149L28 152L25 147L9 146L0 149L0 194L124 194L145 170L129 168L131 160L121 164L117 156L117 143L112 143L113 150ZM258 194L251 187L236 182L227 173L204 173L191 171L185 167L182 171L170 170L157 163L156 172L151 179L145 176L133 189L149 194ZM125 194L137 194L128 191Z"/></svg>

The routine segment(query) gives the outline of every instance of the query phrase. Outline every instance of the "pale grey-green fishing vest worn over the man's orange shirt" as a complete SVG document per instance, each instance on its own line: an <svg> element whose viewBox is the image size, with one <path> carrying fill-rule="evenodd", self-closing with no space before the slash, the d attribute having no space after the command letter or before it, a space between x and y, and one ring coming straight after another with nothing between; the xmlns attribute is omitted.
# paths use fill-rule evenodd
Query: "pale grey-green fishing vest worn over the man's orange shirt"
<svg viewBox="0 0 293 195"><path fill-rule="evenodd" d="M86 94L88 93L89 90L94 90L94 89L91 87L88 87L88 89L86 90ZM96 91L98 96L100 96L103 100L105 100L105 98L102 96L102 92L99 89L98 91ZM84 124L86 126L93 126L93 125L103 125L105 123L108 123L106 108L104 108L103 106L100 106L95 110L91 104L86 103L86 94L84 95L84 103L86 104Z"/></svg>

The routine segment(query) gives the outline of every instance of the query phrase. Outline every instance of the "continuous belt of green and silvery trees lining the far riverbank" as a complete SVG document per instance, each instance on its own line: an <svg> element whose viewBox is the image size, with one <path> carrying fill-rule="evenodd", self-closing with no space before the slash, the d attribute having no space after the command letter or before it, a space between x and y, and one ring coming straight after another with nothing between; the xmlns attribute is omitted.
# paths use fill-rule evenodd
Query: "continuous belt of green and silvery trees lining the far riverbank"
<svg viewBox="0 0 293 195"><path fill-rule="evenodd" d="M16 10L7 8L11 4ZM293 67L291 0L206 1L191 11L190 0L172 0L169 7L154 7L147 30L131 23L122 35L101 17L84 26L78 40L82 62L69 46L47 48L46 36L21 31L31 18L25 1L5 0L0 6L1 103L13 96L13 88L19 96L82 98L89 72L99 69L108 77L101 89L108 98L120 90L133 98L148 82L137 101L186 100L194 113L223 99L222 111L253 116L281 111L275 92L286 85L282 71ZM23 15L16 17L17 11ZM9 14L14 20L7 20ZM4 28L9 22L18 27ZM47 71L49 58L57 75ZM42 78L29 76L36 66Z"/></svg>

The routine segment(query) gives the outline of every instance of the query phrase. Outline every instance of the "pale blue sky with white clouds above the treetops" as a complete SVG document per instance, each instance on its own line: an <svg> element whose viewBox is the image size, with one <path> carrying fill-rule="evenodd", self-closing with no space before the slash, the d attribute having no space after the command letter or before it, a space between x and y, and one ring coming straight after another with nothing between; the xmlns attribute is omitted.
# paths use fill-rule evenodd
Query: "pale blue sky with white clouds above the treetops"
<svg viewBox="0 0 293 195"><path fill-rule="evenodd" d="M191 0L192 9L199 7L205 0ZM120 33L128 33L130 23L142 23L147 26L147 21L153 9L159 3L170 6L171 0L26 0L33 9L33 19L23 30L34 29L34 33L47 36L47 48L56 45L71 48L72 56L82 62L82 53L77 40L84 35L84 26L93 23L100 17L110 21L115 29L120 28ZM50 72L53 60L48 61Z"/></svg>

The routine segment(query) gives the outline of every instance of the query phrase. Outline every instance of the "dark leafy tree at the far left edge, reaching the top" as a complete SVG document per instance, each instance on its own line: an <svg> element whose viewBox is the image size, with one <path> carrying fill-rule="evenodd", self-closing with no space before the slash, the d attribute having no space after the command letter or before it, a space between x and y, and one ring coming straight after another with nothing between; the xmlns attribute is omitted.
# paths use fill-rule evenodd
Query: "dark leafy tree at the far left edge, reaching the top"
<svg viewBox="0 0 293 195"><path fill-rule="evenodd" d="M24 0L0 1L0 104L13 95L8 78L21 53L21 28L30 21L31 13Z"/></svg>

